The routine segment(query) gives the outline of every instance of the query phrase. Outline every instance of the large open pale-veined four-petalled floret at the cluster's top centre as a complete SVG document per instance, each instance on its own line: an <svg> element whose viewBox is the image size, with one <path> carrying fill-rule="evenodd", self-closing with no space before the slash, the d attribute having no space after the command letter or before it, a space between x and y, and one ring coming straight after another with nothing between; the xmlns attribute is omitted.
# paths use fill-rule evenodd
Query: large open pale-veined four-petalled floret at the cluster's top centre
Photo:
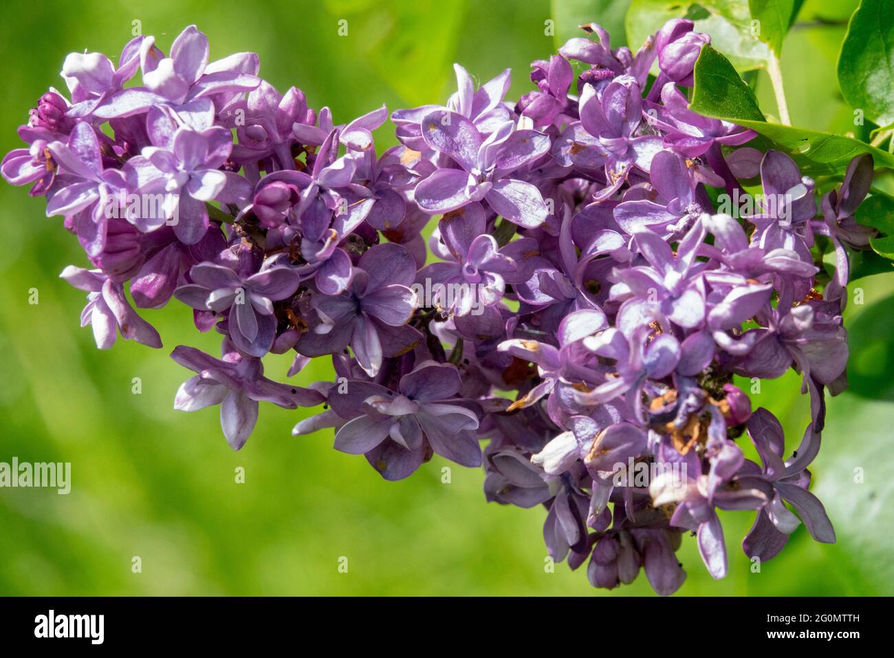
<svg viewBox="0 0 894 658"><path fill-rule="evenodd" d="M507 123L485 139L465 116L435 110L422 119L422 136L460 168L438 169L419 183L419 208L436 215L484 200L513 224L534 228L544 222L549 212L540 191L510 175L549 151L546 135Z"/></svg>

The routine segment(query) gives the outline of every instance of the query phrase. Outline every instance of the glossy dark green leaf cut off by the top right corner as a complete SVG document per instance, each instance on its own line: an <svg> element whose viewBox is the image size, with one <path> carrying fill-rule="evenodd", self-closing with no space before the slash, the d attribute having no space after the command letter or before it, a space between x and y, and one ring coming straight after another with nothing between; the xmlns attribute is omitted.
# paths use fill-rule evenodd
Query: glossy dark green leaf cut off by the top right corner
<svg viewBox="0 0 894 658"><path fill-rule="evenodd" d="M863 0L839 54L844 98L879 125L894 122L894 21L889 0Z"/></svg>

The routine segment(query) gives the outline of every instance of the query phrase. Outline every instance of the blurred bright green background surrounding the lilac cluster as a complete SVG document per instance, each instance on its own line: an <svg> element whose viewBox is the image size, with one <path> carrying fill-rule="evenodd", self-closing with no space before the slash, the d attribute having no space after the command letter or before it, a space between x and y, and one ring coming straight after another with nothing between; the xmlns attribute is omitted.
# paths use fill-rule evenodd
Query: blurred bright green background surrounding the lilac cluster
<svg viewBox="0 0 894 658"><path fill-rule="evenodd" d="M620 45L624 4L595 1L581 16L548 0L6 3L0 147L19 146L15 127L48 85L64 88L58 72L67 53L87 48L116 60L135 20L164 50L196 23L212 59L257 51L268 81L298 86L312 107L329 105L344 122L383 101L389 109L443 101L454 89L453 62L480 81L512 67L517 97L529 89L529 62L553 51L544 21L566 36L605 16ZM854 4L829 4L805 5L782 67L793 123L847 131L835 60ZM338 36L340 19L349 21L346 37ZM772 110L763 73L757 91ZM387 129L377 138L380 147L393 143ZM485 504L478 470L454 467L451 483L442 483L448 463L439 457L407 481L386 483L363 458L334 451L332 432L291 437L303 410L262 406L249 443L233 452L216 407L172 408L191 373L167 355L181 344L215 353L218 338L198 335L189 309L173 303L144 312L163 350L122 340L97 350L91 331L78 327L83 295L57 278L68 264L87 264L75 238L23 189L0 185L0 209L0 461L72 463L67 496L0 489L0 594L652 593L644 575L609 594L564 564L545 572L543 509ZM37 305L28 303L30 288L39 291ZM853 303L857 288L863 304ZM839 543L814 543L802 526L752 573L739 543L753 515L725 514L729 577L710 577L685 538L679 557L688 578L679 594L894 594L894 276L859 279L850 292L853 390L829 400L813 469ZM282 380L290 358L266 363ZM328 370L308 368L299 380ZM139 395L131 393L134 377ZM789 450L808 418L799 384L790 372L754 396L785 423ZM245 483L235 482L239 466ZM141 573L131 571L134 556Z"/></svg>

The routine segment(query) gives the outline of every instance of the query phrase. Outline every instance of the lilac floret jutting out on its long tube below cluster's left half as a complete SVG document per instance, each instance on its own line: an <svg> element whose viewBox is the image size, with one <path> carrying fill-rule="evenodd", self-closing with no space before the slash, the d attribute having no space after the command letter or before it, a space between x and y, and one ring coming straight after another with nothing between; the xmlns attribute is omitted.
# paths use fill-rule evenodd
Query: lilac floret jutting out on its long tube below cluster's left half
<svg viewBox="0 0 894 658"><path fill-rule="evenodd" d="M255 428L259 401L295 409L316 406L325 399L316 390L268 380L260 359L240 355L236 350L228 349L226 342L223 344L223 360L182 345L174 348L171 358L184 368L198 372L181 384L173 408L198 411L220 405L223 436L234 450L245 445Z"/></svg>

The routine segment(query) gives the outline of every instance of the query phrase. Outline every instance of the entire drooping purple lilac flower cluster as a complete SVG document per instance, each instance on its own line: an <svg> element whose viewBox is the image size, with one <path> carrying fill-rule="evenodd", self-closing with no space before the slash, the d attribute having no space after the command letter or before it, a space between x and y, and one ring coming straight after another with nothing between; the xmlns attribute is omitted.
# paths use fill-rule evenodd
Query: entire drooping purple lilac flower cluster
<svg viewBox="0 0 894 658"><path fill-rule="evenodd" d="M671 594L686 531L723 577L718 509L756 512L749 557L801 522L834 542L807 467L824 390L846 386L845 246L868 241L853 217L872 159L818 207L791 158L733 149L755 133L688 109L709 40L691 21L635 54L585 30L532 64L514 103L510 71L477 86L456 65L446 105L392 112L400 143L381 154L384 106L336 124L258 77L257 55L210 61L194 26L167 55L138 37L117 64L66 57L69 98L39 99L2 173L87 253L62 278L88 293L97 346L161 347L138 310L172 297L221 335L220 358L173 350L196 373L174 407L219 405L233 449L266 401L324 405L293 433L333 427L388 480L434 453L484 465L487 500L543 506L552 559L589 560L598 587L644 568ZM716 212L758 176L754 212ZM815 235L838 253L828 281ZM287 352L290 377L319 356L337 379L267 379L262 357ZM732 378L789 368L812 422L786 459L780 423Z"/></svg>

